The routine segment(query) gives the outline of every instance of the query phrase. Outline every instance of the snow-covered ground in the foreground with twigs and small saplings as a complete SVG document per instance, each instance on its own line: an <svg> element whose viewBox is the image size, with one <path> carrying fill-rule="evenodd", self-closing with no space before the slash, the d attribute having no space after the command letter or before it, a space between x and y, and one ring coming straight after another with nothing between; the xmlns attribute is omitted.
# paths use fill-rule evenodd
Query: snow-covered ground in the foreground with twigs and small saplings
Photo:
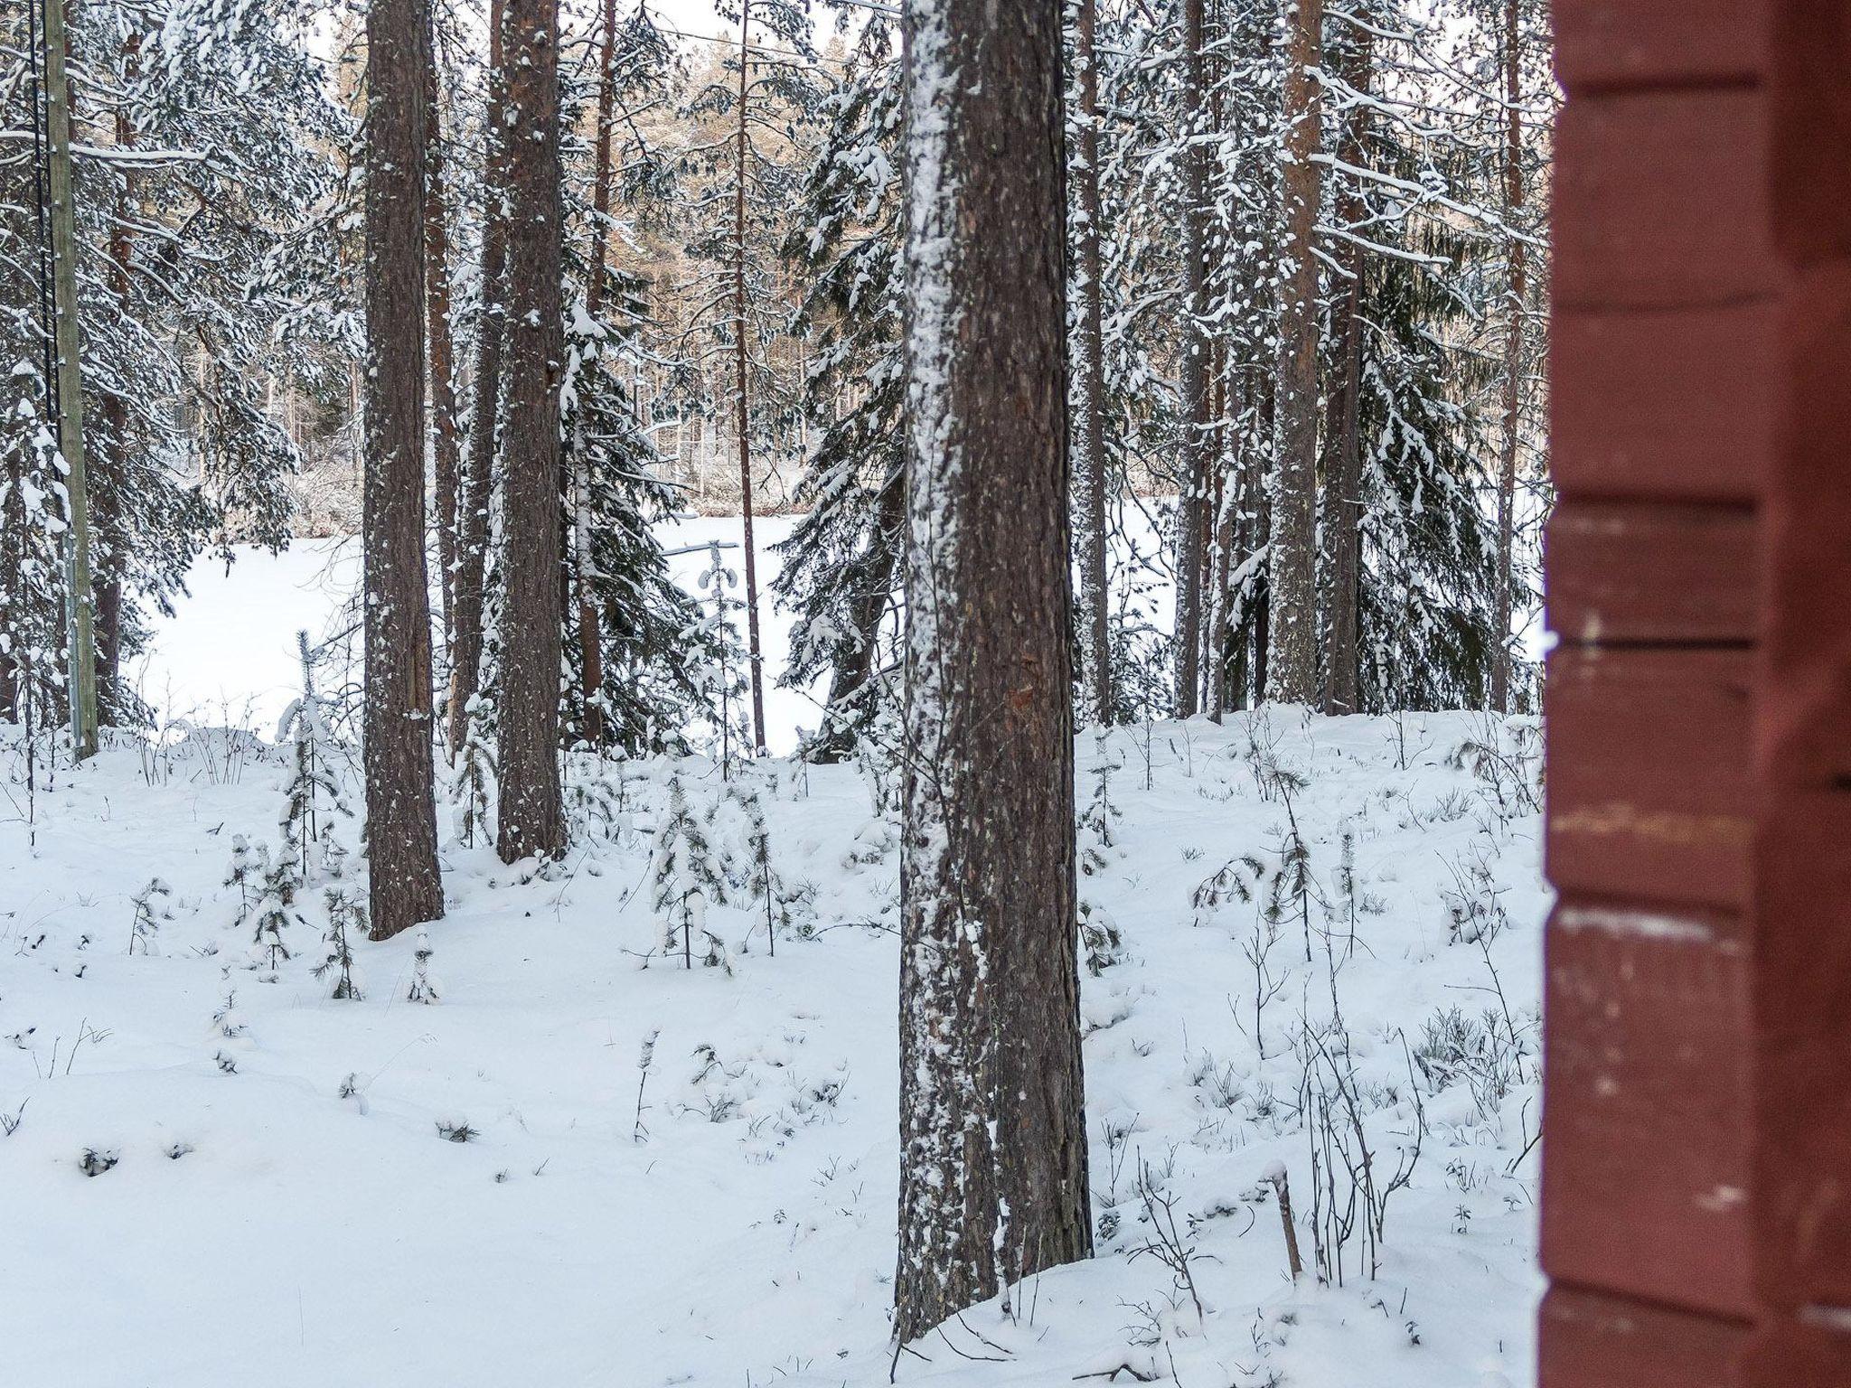
<svg viewBox="0 0 1851 1388"><path fill-rule="evenodd" d="M283 685L287 646L261 659ZM581 811L570 859L529 881L446 811L442 998L418 1005L411 935L359 944L363 1001L328 996L318 888L276 981L250 968L224 881L233 835L276 838L283 751L118 740L59 768L28 825L0 733L4 1379L1527 1384L1534 731L1272 709L1083 735L1083 807L1114 770L1081 894L1122 935L1083 988L1098 1257L1035 1279L1014 1321L975 1308L898 1362L898 864L859 768L755 774L787 894L813 907L776 957L753 907L711 911L731 975L650 957L668 775L737 838L709 762L605 770L622 809ZM1268 925L1294 824L1305 914L1285 890ZM130 953L155 877L172 896ZM1357 1233L1342 1286L1292 1284L1266 1177L1288 1173L1309 1268L1305 1116L1333 1118L1320 1160L1355 1157L1346 1096L1379 1186L1423 1134L1418 1162L1373 1281Z"/></svg>

